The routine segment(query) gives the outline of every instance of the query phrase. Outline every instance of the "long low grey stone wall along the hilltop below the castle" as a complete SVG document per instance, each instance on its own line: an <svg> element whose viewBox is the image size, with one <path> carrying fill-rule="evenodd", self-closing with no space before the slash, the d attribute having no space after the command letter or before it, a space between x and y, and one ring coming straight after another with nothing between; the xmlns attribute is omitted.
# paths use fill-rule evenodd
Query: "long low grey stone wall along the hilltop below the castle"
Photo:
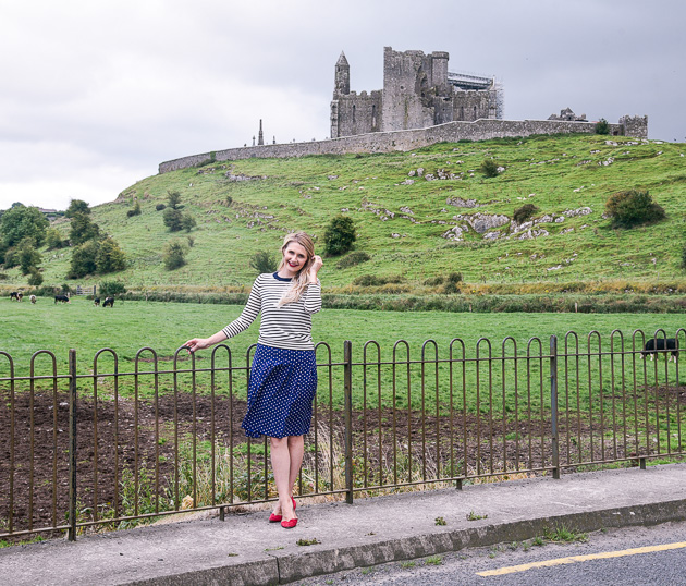
<svg viewBox="0 0 686 586"><path fill-rule="evenodd" d="M343 136L311 143L287 143L230 148L215 154L217 161L249 158L290 158L307 155L348 155L355 152L406 151L436 143L456 143L463 138L483 141L505 136L529 136L531 134L593 133L593 122L567 122L559 120L477 120L475 122L449 122L428 129L408 131L373 132L355 136ZM615 136L648 137L648 117L622 117L620 123L610 124L610 134ZM211 155L192 155L159 166L160 173L187 169L211 160Z"/></svg>

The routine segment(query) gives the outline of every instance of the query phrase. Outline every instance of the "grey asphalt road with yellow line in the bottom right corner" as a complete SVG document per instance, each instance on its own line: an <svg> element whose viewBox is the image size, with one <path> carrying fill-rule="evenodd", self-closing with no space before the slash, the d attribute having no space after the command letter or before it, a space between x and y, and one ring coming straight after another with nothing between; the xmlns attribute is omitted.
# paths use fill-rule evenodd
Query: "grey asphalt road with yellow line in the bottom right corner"
<svg viewBox="0 0 686 586"><path fill-rule="evenodd" d="M316 578L301 585L339 584L659 584L686 585L686 522L665 523L652 527L608 529L588 534L585 540L552 542L532 540L490 548L477 548L458 552L424 558L407 562L393 562L372 567L356 569ZM636 548L672 547L674 549L642 553L627 552ZM617 553L621 552L621 553ZM536 566L536 562L560 560L573 556L605 557L588 561L552 566ZM600 556L599 556L600 557ZM554 563L554 562L553 562ZM529 569L481 576L488 571L503 571L512 566L531 565Z"/></svg>

